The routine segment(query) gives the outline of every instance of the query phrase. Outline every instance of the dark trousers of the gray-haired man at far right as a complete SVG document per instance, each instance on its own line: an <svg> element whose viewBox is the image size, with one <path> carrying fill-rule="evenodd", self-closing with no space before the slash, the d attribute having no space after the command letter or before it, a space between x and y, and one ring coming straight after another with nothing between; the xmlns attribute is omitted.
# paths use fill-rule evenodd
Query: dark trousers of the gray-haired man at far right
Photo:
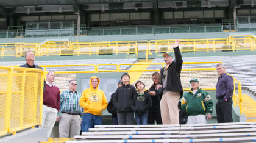
<svg viewBox="0 0 256 143"><path fill-rule="evenodd" d="M232 99L224 101L224 98L218 98L216 103L216 113L218 123L233 122L232 118Z"/></svg>

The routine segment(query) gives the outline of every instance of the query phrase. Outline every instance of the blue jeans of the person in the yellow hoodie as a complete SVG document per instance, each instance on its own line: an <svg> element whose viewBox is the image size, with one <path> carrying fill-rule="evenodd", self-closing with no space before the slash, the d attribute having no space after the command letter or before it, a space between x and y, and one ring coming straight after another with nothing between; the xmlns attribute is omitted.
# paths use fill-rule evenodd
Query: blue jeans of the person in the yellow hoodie
<svg viewBox="0 0 256 143"><path fill-rule="evenodd" d="M82 131L88 132L89 128L94 128L94 125L102 125L102 116L84 113L82 121Z"/></svg>

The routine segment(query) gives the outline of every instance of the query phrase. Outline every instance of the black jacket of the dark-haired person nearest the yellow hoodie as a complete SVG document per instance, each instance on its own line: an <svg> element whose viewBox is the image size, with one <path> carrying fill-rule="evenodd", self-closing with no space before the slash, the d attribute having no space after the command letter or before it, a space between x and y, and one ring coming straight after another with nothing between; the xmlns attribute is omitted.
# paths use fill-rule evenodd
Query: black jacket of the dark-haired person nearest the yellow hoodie
<svg viewBox="0 0 256 143"><path fill-rule="evenodd" d="M133 98L137 95L137 91L133 85L122 84L118 87L115 92L114 104L116 106L117 112L121 111L134 111Z"/></svg>

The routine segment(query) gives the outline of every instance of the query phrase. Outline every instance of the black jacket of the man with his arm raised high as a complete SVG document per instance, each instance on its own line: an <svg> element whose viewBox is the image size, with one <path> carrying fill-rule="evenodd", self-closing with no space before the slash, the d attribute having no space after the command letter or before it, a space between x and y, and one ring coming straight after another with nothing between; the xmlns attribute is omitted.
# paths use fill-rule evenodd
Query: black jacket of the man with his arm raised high
<svg viewBox="0 0 256 143"><path fill-rule="evenodd" d="M168 75L167 77L167 84L166 84L166 91L180 91L180 97L183 95L183 89L180 82L180 72L182 70L182 56L180 54L179 47L173 48L174 54L175 54L175 61L172 61L171 65L167 68ZM161 68L160 74L161 74L161 83L163 84L163 72L165 70L164 68ZM164 90L164 89L163 89Z"/></svg>

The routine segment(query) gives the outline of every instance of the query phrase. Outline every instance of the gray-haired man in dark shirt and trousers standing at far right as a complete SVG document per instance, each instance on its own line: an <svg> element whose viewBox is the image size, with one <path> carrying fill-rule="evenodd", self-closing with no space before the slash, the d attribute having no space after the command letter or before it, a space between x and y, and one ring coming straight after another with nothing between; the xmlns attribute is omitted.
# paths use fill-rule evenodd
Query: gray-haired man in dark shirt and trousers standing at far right
<svg viewBox="0 0 256 143"><path fill-rule="evenodd" d="M232 96L234 91L233 78L226 73L223 64L217 64L216 70L219 74L216 84L216 113L218 123L233 122L232 118Z"/></svg>

